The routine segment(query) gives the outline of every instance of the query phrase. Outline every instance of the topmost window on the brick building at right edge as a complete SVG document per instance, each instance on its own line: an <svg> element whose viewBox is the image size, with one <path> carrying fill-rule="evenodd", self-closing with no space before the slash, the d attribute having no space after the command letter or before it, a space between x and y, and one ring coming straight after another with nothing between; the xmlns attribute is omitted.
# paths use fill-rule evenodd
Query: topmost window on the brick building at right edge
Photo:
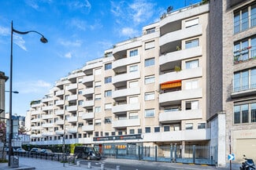
<svg viewBox="0 0 256 170"><path fill-rule="evenodd" d="M256 26L256 4L240 9L234 13L234 34L254 26Z"/></svg>

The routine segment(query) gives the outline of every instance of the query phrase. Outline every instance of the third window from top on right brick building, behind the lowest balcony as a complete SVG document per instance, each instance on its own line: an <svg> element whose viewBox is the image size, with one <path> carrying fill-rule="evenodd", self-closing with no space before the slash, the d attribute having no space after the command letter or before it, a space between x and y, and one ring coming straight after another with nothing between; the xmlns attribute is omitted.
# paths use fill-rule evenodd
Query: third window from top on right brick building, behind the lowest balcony
<svg viewBox="0 0 256 170"><path fill-rule="evenodd" d="M234 74L233 91L239 92L256 88L256 68Z"/></svg>

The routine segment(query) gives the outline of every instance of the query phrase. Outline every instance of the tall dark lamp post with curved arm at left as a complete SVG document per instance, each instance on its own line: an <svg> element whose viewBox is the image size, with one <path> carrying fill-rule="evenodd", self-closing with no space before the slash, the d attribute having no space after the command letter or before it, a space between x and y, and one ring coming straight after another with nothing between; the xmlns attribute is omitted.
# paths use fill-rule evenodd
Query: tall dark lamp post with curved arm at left
<svg viewBox="0 0 256 170"><path fill-rule="evenodd" d="M13 155L13 146L12 146L12 139L13 139L13 32L17 34L28 34L30 32L35 32L36 34L41 35L40 41L43 43L48 42L48 40L43 36L43 34L39 33L38 31L17 31L13 28L13 21L11 24L11 55L10 55L10 71L9 71L9 154L8 154L8 166L10 166L10 159Z"/></svg>

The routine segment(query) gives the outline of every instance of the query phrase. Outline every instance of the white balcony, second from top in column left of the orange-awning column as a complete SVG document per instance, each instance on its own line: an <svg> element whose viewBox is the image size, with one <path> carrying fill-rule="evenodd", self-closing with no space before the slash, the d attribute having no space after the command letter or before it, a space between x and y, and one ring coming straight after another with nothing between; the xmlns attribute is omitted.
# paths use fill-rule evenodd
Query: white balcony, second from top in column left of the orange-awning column
<svg viewBox="0 0 256 170"><path fill-rule="evenodd" d="M132 56L132 57L127 57L127 58L123 58L120 60L115 60L112 64L112 68L113 70L117 70L118 67L124 67L127 65L130 65L132 63L139 63L140 62L140 56Z"/></svg>

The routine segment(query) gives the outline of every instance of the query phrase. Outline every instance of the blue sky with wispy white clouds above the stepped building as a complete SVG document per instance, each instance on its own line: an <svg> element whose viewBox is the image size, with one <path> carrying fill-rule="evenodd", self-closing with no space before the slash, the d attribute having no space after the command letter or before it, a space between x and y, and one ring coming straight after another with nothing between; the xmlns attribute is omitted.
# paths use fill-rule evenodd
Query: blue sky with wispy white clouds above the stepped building
<svg viewBox="0 0 256 170"><path fill-rule="evenodd" d="M114 44L142 35L173 10L201 0L0 0L0 71L9 76L11 22L13 33L13 114L25 116L30 103L69 72L104 56ZM9 90L9 80L6 81ZM9 92L6 92L9 112Z"/></svg>

